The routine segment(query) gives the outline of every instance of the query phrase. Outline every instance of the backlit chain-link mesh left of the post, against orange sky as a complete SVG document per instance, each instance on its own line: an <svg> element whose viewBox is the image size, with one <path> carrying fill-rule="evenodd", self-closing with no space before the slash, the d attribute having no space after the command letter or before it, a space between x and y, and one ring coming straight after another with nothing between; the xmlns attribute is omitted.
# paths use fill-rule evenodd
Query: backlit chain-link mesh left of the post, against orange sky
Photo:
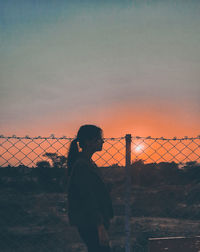
<svg viewBox="0 0 200 252"><path fill-rule="evenodd" d="M35 166L37 162L46 160L45 153L56 153L66 156L69 145L73 138L67 137L17 137L0 136L0 165L2 167L11 165ZM117 164L125 165L125 143L124 137L105 138L101 154L95 153L93 160L99 166L110 166Z"/></svg>

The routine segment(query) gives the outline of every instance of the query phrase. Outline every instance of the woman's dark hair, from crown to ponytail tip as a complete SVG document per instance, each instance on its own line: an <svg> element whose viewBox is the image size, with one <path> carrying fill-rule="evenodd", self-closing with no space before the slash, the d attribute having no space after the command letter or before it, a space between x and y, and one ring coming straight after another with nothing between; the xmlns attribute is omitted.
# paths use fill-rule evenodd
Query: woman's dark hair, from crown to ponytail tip
<svg viewBox="0 0 200 252"><path fill-rule="evenodd" d="M95 125L82 125L77 133L76 138L71 142L67 157L67 167L68 167L68 176L71 175L71 169L73 163L76 161L79 155L79 148L77 142L79 142L79 146L84 148L85 142L87 140L92 140L94 138L98 138L102 135L102 129Z"/></svg>

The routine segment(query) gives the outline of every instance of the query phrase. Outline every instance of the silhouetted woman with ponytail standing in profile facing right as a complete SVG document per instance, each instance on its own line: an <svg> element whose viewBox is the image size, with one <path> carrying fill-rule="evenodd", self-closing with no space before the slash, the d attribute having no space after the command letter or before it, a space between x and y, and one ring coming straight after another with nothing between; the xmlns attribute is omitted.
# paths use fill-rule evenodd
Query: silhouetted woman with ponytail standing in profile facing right
<svg viewBox="0 0 200 252"><path fill-rule="evenodd" d="M107 230L113 218L112 201L101 171L92 161L103 142L101 128L83 125L71 142L67 159L69 221L78 228L88 252L111 251Z"/></svg>

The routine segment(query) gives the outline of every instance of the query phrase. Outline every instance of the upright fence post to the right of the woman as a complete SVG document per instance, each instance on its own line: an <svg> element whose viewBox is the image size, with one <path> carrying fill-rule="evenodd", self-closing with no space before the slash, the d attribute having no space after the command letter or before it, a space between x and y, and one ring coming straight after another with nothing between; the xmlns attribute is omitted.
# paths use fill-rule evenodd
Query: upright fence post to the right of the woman
<svg viewBox="0 0 200 252"><path fill-rule="evenodd" d="M126 192L125 192L125 233L126 233L126 245L125 251L130 252L130 193L131 193L131 178L130 178L130 166L131 166L131 134L127 134L126 137Z"/></svg>

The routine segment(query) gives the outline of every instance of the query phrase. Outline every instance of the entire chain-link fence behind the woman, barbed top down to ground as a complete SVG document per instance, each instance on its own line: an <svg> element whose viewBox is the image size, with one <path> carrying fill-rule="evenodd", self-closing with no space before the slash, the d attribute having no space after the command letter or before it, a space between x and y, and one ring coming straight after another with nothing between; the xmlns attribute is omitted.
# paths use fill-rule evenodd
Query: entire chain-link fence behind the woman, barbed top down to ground
<svg viewBox="0 0 200 252"><path fill-rule="evenodd" d="M63 177L72 140L0 136L2 252L86 252L67 218ZM147 252L149 238L200 235L199 136L105 138L93 160L113 201L112 252Z"/></svg>

